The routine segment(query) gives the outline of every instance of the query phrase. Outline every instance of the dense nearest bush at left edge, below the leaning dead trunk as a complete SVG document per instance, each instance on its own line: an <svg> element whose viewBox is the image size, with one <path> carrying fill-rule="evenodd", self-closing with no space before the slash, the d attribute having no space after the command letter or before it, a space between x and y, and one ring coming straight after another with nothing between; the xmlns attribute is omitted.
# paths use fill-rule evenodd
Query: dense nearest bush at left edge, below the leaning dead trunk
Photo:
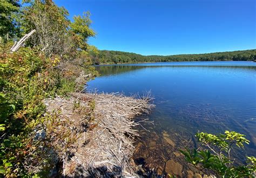
<svg viewBox="0 0 256 178"><path fill-rule="evenodd" d="M0 58L0 173L23 174L23 157L32 128L28 124L42 117L43 99L53 90L51 61L36 50L22 48L8 53L1 46ZM52 70L52 71L51 71Z"/></svg>

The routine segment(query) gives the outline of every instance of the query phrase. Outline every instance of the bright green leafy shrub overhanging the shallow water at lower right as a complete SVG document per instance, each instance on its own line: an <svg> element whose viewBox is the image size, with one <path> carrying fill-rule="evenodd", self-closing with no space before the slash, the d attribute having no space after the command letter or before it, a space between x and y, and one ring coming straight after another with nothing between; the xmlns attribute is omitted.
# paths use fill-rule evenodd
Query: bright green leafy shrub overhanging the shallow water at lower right
<svg viewBox="0 0 256 178"><path fill-rule="evenodd" d="M187 162L198 169L217 177L254 177L256 172L256 159L247 156L246 165L238 165L233 160L231 150L234 146L244 147L249 144L245 135L233 131L214 135L200 132L196 134L203 148L180 150Z"/></svg>

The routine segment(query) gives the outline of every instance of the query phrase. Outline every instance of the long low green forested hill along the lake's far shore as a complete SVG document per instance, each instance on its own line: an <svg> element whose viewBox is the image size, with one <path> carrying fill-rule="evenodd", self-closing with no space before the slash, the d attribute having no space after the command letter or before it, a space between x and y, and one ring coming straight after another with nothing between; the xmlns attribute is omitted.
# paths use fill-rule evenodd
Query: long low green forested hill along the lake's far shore
<svg viewBox="0 0 256 178"><path fill-rule="evenodd" d="M221 60L256 60L256 49L204 54L178 54L171 56L143 56L131 52L99 50L91 53L95 64L154 63L166 61L221 61Z"/></svg>

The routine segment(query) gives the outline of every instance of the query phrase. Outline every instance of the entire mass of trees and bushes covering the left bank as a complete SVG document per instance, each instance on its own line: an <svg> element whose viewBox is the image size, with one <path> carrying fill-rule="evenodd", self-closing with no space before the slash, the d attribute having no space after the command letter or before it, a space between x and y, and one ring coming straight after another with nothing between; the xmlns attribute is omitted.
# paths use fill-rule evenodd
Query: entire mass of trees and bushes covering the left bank
<svg viewBox="0 0 256 178"><path fill-rule="evenodd" d="M1 36L10 37L9 42L0 44L0 177L48 175L52 163L45 149L51 148L51 142L33 139L33 131L45 120L55 122L54 114L46 117L43 101L56 94L65 97L80 92L97 74L89 56L97 49L87 44L95 35L89 13L71 22L68 11L51 0L24 2L23 7L16 1L0 2L1 15L2 10L6 14L6 22L1 20ZM12 19L15 12L21 13ZM33 29L36 33L24 47L11 53L16 40L11 37L19 35L14 28L23 34ZM37 165L41 166L37 173L30 170Z"/></svg>

